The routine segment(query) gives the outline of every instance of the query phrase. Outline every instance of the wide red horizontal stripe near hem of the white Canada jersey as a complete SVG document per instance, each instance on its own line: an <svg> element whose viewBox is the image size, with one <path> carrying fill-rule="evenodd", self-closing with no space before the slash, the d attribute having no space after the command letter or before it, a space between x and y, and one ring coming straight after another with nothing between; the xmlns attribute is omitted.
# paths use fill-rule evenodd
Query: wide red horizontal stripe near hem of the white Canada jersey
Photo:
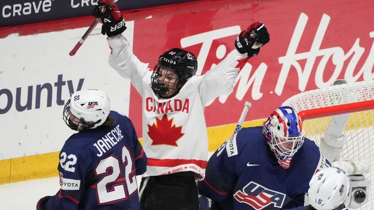
<svg viewBox="0 0 374 210"><path fill-rule="evenodd" d="M148 166L174 167L184 164L196 164L202 169L206 168L206 160L184 160L184 159L154 159L148 158Z"/></svg>

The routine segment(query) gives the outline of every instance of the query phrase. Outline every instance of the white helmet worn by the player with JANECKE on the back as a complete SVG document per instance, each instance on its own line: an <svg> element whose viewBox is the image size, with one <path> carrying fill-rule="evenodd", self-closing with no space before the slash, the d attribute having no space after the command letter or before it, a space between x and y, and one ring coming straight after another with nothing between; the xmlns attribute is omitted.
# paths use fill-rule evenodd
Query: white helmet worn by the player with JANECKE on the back
<svg viewBox="0 0 374 210"><path fill-rule="evenodd" d="M106 121L110 107L111 102L102 91L77 91L65 104L63 120L75 131L96 128Z"/></svg>

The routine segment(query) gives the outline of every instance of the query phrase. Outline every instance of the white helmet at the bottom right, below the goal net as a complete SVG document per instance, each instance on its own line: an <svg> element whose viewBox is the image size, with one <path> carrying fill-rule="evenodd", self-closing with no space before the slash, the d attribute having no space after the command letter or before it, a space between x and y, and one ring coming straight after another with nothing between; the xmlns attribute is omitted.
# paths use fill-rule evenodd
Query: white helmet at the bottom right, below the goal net
<svg viewBox="0 0 374 210"><path fill-rule="evenodd" d="M314 174L310 180L309 203L317 210L333 210L349 202L350 191L348 175L338 168L329 167Z"/></svg>

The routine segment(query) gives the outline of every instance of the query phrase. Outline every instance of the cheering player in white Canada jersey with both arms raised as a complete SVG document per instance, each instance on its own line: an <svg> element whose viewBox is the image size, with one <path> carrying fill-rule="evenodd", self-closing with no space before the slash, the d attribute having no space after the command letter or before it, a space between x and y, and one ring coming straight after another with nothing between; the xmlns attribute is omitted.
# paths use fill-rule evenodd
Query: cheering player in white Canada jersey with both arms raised
<svg viewBox="0 0 374 210"><path fill-rule="evenodd" d="M205 105L233 91L245 63L239 60L256 56L259 46L270 40L269 33L264 24L253 23L235 40L236 49L204 76L195 76L195 55L179 48L162 54L150 71L121 35L126 27L116 8L101 0L93 15L102 20L102 32L109 37L110 65L131 79L142 96L148 165L140 188L141 210L198 210L195 180L204 179L208 156Z"/></svg>

